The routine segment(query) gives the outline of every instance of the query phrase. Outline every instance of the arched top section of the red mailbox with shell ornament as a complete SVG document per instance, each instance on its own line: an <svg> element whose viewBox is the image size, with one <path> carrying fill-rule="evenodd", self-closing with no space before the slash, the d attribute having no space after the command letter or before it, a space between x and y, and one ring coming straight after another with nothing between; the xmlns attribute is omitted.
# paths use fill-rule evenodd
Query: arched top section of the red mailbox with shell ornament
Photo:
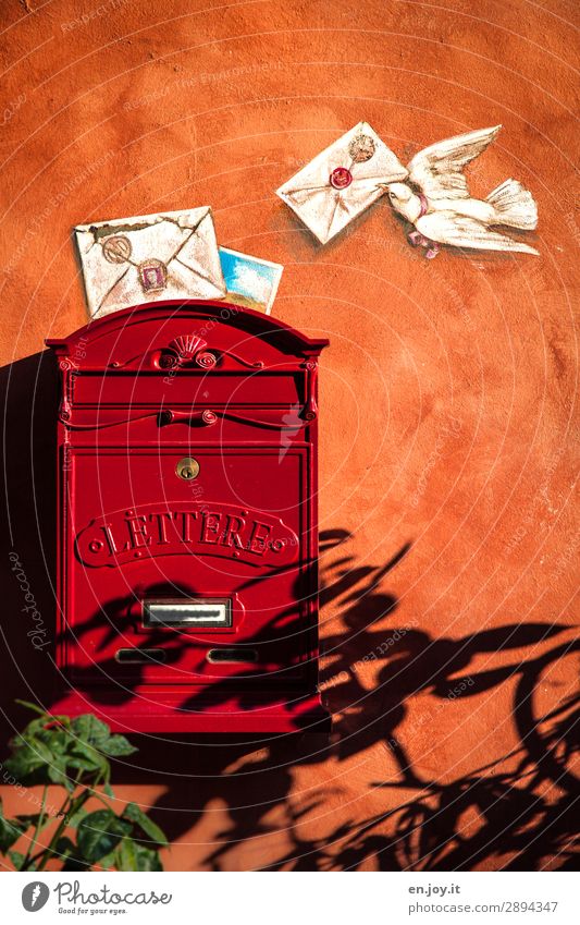
<svg viewBox="0 0 580 925"><path fill-rule="evenodd" d="M235 305L190 301L128 308L47 343L60 358L60 421L71 439L95 429L129 442L137 434L155 439L168 413L182 421L206 413L225 439L251 439L244 428L252 426L310 425L317 356L328 341Z"/></svg>

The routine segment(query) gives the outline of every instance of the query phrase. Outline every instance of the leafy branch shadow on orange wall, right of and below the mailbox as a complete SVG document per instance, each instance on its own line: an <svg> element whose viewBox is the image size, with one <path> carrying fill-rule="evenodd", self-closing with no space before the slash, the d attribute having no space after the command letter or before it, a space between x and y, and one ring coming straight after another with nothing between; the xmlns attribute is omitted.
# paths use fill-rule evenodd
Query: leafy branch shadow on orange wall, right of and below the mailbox
<svg viewBox="0 0 580 925"><path fill-rule="evenodd" d="M326 532L322 548L347 539L345 531ZM577 653L580 643L556 644L556 636L568 638L568 629L543 622L514 622L459 638L432 638L412 623L398 625L397 600L382 584L408 548L382 567L358 567L343 556L322 571L321 601L336 603L342 619L340 632L324 640L331 665L320 684L335 717L331 742L308 734L235 746L225 739L206 740L185 760L181 752L182 777L166 781L152 811L170 837L184 838L196 823L207 821L215 801L227 807L229 824L212 835L201 861L196 848L194 869L237 869L235 852L242 843L254 869L529 871L545 859L552 859L553 868L576 869L580 787L570 765L578 754L580 701L563 697L542 711L536 693L551 666ZM484 655L493 664L505 653L513 653L510 664L470 670L476 657ZM369 661L378 668L370 690L361 681L361 666ZM441 780L414 766L397 733L411 716L410 739L414 730L421 732L415 698L430 694L444 707L514 684L505 722L518 733L515 748L456 777L442 768ZM494 742L493 729L486 734ZM431 735L437 735L436 728ZM334 828L312 837L317 815L326 825L332 801L336 805L341 798L341 763L373 746L384 750L387 779L368 789L372 805L383 800L384 810L361 820L345 795L345 807L334 811L340 814ZM453 747L461 755L460 733ZM331 759L335 782L306 795L293 792L295 769ZM363 796L357 793L356 806Z"/></svg>

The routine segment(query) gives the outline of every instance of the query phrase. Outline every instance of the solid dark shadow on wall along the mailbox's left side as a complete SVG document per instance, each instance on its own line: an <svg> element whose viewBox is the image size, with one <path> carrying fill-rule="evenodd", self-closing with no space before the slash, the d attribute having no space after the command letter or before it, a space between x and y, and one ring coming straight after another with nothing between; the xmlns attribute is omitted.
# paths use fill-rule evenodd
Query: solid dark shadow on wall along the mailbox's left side
<svg viewBox="0 0 580 925"><path fill-rule="evenodd" d="M49 703L54 672L58 404L48 351L0 369L2 743L30 718L14 698Z"/></svg>

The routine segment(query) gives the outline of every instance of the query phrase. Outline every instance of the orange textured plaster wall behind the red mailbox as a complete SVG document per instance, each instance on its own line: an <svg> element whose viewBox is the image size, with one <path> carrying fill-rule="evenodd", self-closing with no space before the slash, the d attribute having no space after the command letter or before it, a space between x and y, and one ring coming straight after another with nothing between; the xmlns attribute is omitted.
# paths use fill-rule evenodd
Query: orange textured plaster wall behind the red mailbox
<svg viewBox="0 0 580 925"><path fill-rule="evenodd" d="M211 204L220 243L284 264L273 314L332 342L320 512L335 732L140 742L116 791L153 807L169 868L573 863L577 13L570 0L1 5L1 538L47 625L55 399L39 352L86 320L73 224ZM386 200L317 245L273 191L360 119L402 158L503 123L472 188L529 186L541 256L427 261ZM2 556L5 699L48 703L50 656L26 640ZM7 728L22 721L11 708ZM2 791L34 812L34 793Z"/></svg>

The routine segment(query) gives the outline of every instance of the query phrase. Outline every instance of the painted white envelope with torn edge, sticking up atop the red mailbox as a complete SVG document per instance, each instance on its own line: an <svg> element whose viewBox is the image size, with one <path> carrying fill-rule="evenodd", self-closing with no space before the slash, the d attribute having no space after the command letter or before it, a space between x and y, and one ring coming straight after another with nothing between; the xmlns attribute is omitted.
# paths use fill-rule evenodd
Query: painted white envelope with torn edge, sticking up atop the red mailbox
<svg viewBox="0 0 580 925"><path fill-rule="evenodd" d="M75 228L89 315L141 302L225 295L209 206Z"/></svg>

